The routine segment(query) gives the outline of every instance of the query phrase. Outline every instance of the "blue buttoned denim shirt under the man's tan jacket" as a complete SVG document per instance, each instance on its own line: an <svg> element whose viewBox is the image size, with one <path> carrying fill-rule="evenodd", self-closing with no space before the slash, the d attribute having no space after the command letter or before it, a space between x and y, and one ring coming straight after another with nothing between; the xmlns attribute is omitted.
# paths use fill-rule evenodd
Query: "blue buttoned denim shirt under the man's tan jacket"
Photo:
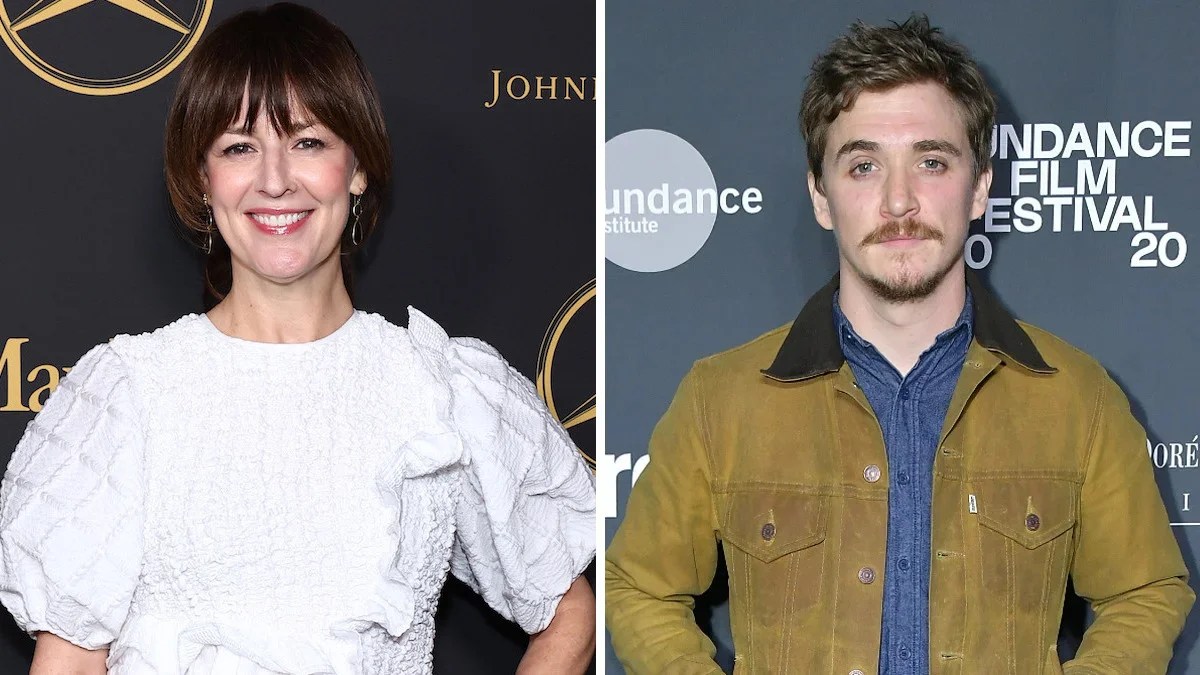
<svg viewBox="0 0 1200 675"><path fill-rule="evenodd" d="M888 458L880 674L925 675L934 456L971 345L971 291L958 322L934 340L905 377L854 333L836 297L833 307L842 354L880 422Z"/></svg>

